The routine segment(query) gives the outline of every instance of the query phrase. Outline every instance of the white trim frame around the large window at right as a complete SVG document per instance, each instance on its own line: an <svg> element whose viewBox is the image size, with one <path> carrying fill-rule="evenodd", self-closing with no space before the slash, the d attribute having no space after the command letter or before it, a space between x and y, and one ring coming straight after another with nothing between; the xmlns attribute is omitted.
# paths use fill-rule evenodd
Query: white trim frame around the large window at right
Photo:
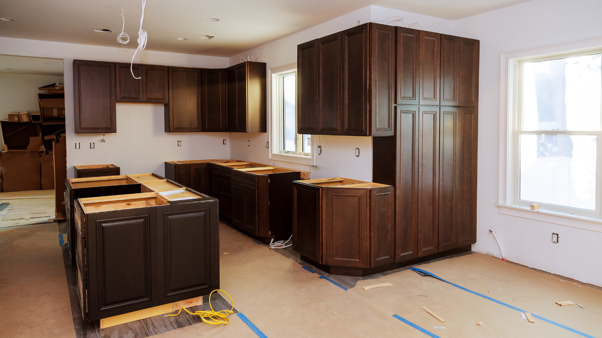
<svg viewBox="0 0 602 338"><path fill-rule="evenodd" d="M499 120L499 161L498 161L498 204L500 214L512 215L530 220L545 221L563 226L602 232L602 218L588 215L574 215L561 210L541 208L531 210L529 206L514 203L515 164L513 139L515 129L514 98L517 94L515 70L518 62L525 58L547 57L562 52L585 52L602 48L602 38L560 43L558 45L522 49L500 54L500 120ZM514 91L513 91L514 90ZM599 187L598 187L599 188Z"/></svg>

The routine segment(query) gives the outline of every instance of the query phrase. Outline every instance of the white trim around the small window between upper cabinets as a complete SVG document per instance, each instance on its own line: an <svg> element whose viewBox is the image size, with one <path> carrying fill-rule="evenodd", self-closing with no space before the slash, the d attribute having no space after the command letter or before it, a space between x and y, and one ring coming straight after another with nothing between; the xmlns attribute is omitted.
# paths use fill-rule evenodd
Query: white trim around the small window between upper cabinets
<svg viewBox="0 0 602 338"><path fill-rule="evenodd" d="M272 82L273 82L273 74L275 73L280 73L280 72L285 72L287 70L291 70L291 69L296 69L297 68L297 63L289 63L289 64L285 64L284 66L279 66L279 67L273 67L268 69L267 71L267 94L268 94L268 125L270 126L270 128L268 128L268 138L270 140L270 150L269 150L269 159L273 160L273 161L284 161L284 162L292 162L292 163L298 163L298 164L305 164L305 165L312 165L314 164L314 160L312 159L312 156L310 155L308 156L304 156L304 155L297 155L297 154L287 154L287 153L281 153L279 152L278 149L278 144L279 144L279 137L281 137L281 135L279 135L279 133L275 132L276 130L278 130L277 128L279 128L280 124L282 123L282 120L278 117L275 117L275 111L274 111L274 107L278 104L276 102L276 100L278 100L278 98L273 96L273 92L272 92ZM314 135L312 135L311 137L311 153L313 154L315 152L315 147L314 147Z"/></svg>

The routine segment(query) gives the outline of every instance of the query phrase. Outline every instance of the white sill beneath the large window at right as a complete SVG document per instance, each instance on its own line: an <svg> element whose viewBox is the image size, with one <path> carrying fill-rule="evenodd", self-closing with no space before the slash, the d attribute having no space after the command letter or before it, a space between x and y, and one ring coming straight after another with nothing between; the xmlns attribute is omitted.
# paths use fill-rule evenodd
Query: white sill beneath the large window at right
<svg viewBox="0 0 602 338"><path fill-rule="evenodd" d="M547 223L560 224L562 226L574 227L595 232L602 232L602 219L581 215L568 214L555 210L538 209L531 210L530 207L518 204L506 205L495 204L500 208L500 214L527 218L529 220L543 221Z"/></svg>

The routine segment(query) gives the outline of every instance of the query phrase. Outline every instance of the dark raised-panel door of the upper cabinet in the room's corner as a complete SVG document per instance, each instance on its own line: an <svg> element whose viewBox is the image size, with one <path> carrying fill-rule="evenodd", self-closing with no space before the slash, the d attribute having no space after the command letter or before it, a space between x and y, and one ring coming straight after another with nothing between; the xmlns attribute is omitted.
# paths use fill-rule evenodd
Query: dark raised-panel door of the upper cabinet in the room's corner
<svg viewBox="0 0 602 338"><path fill-rule="evenodd" d="M203 132L226 131L226 88L223 69L201 71Z"/></svg>

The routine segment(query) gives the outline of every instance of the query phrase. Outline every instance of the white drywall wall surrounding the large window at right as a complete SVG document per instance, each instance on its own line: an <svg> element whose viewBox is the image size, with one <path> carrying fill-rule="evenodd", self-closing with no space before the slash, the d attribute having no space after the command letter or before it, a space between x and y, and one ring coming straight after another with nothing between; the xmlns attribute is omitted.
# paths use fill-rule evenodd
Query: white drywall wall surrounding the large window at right
<svg viewBox="0 0 602 338"><path fill-rule="evenodd" d="M602 233L500 215L498 207L498 129L500 53L602 37L602 2L534 0L455 22L458 35L480 40L479 168L477 243L474 251L500 251L508 260L602 286ZM501 98L505 99L505 98ZM551 233L560 234L559 244Z"/></svg>

